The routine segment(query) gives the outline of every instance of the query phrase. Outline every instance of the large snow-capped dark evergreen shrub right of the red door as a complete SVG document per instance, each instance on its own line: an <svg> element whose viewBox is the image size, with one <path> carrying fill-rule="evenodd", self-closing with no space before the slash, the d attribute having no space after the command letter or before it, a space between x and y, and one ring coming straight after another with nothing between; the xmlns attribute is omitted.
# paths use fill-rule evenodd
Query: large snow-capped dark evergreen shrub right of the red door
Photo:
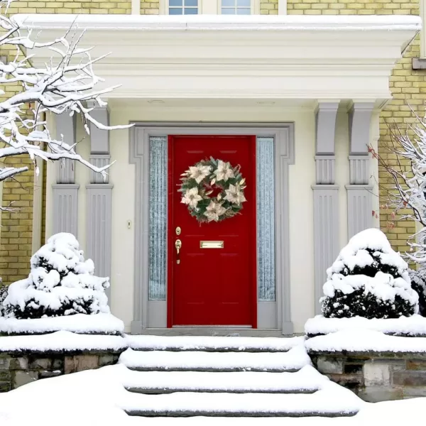
<svg viewBox="0 0 426 426"><path fill-rule="evenodd" d="M327 269L322 313L327 318L398 318L418 312L408 264L379 229L353 236Z"/></svg>

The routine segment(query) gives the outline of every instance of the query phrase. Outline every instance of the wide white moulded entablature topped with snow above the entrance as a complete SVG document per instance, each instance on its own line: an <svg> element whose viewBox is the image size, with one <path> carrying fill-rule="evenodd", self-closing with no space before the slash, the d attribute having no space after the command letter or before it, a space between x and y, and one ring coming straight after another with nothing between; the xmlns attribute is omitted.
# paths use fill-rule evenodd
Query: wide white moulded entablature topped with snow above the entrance
<svg viewBox="0 0 426 426"><path fill-rule="evenodd" d="M391 97L388 78L417 16L17 15L39 41L86 28L81 47L119 98ZM34 58L43 64L50 50Z"/></svg>

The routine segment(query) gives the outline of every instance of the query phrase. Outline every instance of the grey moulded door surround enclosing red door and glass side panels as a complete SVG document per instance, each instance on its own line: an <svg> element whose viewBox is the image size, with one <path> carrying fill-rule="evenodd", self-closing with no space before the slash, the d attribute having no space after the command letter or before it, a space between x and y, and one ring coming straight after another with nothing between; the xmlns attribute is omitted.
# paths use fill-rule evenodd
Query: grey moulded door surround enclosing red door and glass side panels
<svg viewBox="0 0 426 426"><path fill-rule="evenodd" d="M294 123L133 122L129 163L135 170L134 288L131 333L168 334L167 300L148 300L149 138L180 135L254 135L275 141L275 285L274 302L257 301L258 329L266 335L293 334L290 312L289 166L295 161ZM167 290L167 289L166 289ZM166 291L166 295L167 295ZM167 299L167 296L166 296ZM202 327L203 333L208 327ZM210 327L214 329L214 327ZM173 327L174 332L181 327ZM253 330L253 332L256 330ZM182 332L184 330L182 329ZM255 335L256 333L253 333ZM265 335L265 334L262 334Z"/></svg>

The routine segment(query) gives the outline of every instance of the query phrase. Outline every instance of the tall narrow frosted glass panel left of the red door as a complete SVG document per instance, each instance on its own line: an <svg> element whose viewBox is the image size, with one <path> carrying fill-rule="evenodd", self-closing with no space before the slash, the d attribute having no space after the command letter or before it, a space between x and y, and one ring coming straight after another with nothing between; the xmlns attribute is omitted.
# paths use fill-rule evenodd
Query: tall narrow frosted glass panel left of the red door
<svg viewBox="0 0 426 426"><path fill-rule="evenodd" d="M149 300L165 300L167 136L149 138Z"/></svg>

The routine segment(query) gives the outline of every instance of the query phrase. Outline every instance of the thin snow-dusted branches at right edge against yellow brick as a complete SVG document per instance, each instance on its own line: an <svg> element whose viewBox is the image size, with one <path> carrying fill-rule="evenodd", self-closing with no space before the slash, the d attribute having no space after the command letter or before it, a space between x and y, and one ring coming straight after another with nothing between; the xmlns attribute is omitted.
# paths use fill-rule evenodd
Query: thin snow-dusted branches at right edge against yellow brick
<svg viewBox="0 0 426 426"><path fill-rule="evenodd" d="M426 119L415 116L417 124L408 126L405 133L390 127L391 155L378 155L372 147L369 151L393 180L392 187L385 188L386 205L400 220L418 224L418 231L408 241L411 252L406 255L415 263L426 264Z"/></svg>

